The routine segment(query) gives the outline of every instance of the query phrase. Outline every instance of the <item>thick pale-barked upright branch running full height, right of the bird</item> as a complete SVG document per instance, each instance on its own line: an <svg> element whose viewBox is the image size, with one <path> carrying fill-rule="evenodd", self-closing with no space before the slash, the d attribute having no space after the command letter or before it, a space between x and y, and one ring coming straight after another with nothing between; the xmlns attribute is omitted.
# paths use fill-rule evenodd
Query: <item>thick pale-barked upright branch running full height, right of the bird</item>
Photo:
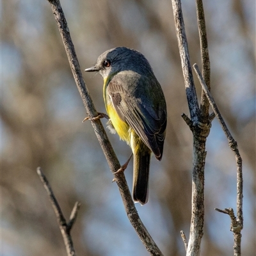
<svg viewBox="0 0 256 256"><path fill-rule="evenodd" d="M211 125L209 125L208 114L208 122L203 124L200 122L200 109L198 106L195 84L193 81L193 75L189 61L188 43L186 40L180 0L172 0L172 5L191 120L189 120L188 116L186 115L182 115L182 117L193 132L192 211L186 255L196 256L200 254L200 244L203 236L204 166L206 157L205 142L207 136L209 135Z"/></svg>

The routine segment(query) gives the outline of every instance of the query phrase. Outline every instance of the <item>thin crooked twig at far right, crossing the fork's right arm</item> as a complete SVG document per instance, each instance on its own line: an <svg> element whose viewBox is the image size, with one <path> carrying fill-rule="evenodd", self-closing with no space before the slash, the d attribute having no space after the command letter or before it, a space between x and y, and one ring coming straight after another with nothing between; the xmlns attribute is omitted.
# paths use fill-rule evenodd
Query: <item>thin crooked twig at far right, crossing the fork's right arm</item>
<svg viewBox="0 0 256 256"><path fill-rule="evenodd" d="M234 152L235 157L236 157L236 166L237 166L237 219L236 222L232 222L232 232L234 234L234 255L241 255L241 230L243 229L243 169L242 169L242 157L239 153L237 142L234 140L233 136L231 135L230 131L228 130L227 125L225 124L225 121L223 120L221 113L216 106L216 103L209 92L205 81L202 77L202 74L200 73L200 70L198 68L198 65L194 64L193 65L196 75L198 76L198 79L200 81L200 84L202 85L202 88L204 89L205 95L207 96L207 99L209 100L212 110L214 111L216 117L218 118L221 127L224 131L224 133L227 136L228 139L228 145L230 149ZM229 209L229 208L227 208ZM225 209L224 211L222 210L221 212L224 212L230 216L231 219L234 217L234 211L227 211ZM217 210L218 211L218 210Z"/></svg>

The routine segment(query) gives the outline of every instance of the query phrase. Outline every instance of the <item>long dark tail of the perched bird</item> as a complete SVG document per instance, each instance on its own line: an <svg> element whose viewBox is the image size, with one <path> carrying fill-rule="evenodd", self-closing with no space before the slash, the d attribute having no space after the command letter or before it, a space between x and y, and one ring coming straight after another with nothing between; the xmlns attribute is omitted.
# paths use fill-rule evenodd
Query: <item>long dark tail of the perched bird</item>
<svg viewBox="0 0 256 256"><path fill-rule="evenodd" d="M141 141L136 141L133 150L133 188L134 202L141 205L148 202L148 180L150 166L150 149Z"/></svg>

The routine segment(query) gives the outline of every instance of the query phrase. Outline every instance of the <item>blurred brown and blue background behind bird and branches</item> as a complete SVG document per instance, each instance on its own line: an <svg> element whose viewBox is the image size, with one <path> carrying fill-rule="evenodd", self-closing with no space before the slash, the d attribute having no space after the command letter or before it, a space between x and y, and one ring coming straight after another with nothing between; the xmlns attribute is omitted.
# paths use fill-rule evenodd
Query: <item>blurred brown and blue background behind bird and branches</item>
<svg viewBox="0 0 256 256"><path fill-rule="evenodd" d="M164 255L185 255L189 238L192 134L171 1L61 1L81 69L104 51L141 51L163 87L168 127L163 160L152 157L141 220ZM195 1L182 1L191 64L200 65ZM204 1L212 95L243 157L243 255L255 255L255 1ZM98 111L105 112L102 78L84 73ZM198 99L201 88L195 78ZM72 237L77 255L148 255L128 221L74 83L50 4L8 0L1 12L1 255L66 255L42 167L66 218L81 202ZM106 127L106 120L102 120ZM109 134L120 163L131 149ZM132 186L132 164L125 171ZM236 163L217 120L207 139L202 255L232 255L227 215L236 209Z"/></svg>

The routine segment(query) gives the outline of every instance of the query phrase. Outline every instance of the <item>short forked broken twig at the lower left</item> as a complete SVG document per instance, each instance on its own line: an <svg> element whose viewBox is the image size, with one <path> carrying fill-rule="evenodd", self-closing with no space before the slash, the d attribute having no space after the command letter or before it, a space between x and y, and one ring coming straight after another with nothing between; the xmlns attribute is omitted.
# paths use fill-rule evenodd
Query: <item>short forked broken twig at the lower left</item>
<svg viewBox="0 0 256 256"><path fill-rule="evenodd" d="M77 216L77 212L79 210L79 205L80 204L78 202L76 202L75 207L72 211L72 223L69 223L69 225L68 225L67 221L65 220L65 217L64 217L64 215L61 211L58 200L54 196L54 193L53 193L52 188L49 184L49 181L45 177L45 175L42 172L40 167L38 167L36 169L36 172L38 173L38 176L40 177L40 180L44 184L44 188L47 191L47 194L49 195L49 199L51 201L52 208L54 209L54 212L57 216L57 220L58 220L58 223L59 223L61 234L63 236L63 240L64 240L64 243L65 243L65 246L66 246L67 254L68 254L68 256L76 256L76 252L75 252L75 249L74 249L74 244L73 244L73 241L72 241L72 237L70 235L70 231L71 231L72 225L76 221L76 216Z"/></svg>

